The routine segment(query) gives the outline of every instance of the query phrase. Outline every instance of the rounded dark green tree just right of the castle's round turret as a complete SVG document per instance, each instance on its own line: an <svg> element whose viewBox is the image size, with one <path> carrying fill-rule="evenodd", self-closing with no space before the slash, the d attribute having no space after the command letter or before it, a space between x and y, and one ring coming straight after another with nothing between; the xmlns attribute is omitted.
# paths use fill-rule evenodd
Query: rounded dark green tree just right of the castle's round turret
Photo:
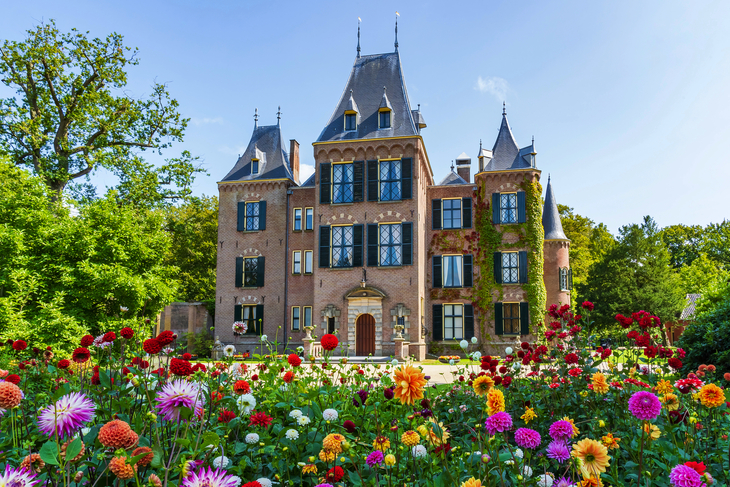
<svg viewBox="0 0 730 487"><path fill-rule="evenodd" d="M591 265L578 287L580 299L595 303L595 331L615 326L614 317L645 310L662 321L676 318L684 294L666 245L651 217L621 227L616 244Z"/></svg>

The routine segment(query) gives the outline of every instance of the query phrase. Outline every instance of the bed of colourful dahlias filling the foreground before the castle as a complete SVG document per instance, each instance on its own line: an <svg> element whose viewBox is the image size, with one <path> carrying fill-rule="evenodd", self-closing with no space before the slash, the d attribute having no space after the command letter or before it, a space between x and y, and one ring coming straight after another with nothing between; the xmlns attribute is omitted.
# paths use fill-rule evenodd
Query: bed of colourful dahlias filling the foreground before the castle
<svg viewBox="0 0 730 487"><path fill-rule="evenodd" d="M730 377L679 376L646 313L620 318L642 347L622 370L587 348L587 318L550 314L504 358L466 344L480 365L441 386L412 364L334 363L333 335L322 363L264 341L258 363L210 366L176 358L171 332L83 337L61 360L10 340L2 485L728 484Z"/></svg>

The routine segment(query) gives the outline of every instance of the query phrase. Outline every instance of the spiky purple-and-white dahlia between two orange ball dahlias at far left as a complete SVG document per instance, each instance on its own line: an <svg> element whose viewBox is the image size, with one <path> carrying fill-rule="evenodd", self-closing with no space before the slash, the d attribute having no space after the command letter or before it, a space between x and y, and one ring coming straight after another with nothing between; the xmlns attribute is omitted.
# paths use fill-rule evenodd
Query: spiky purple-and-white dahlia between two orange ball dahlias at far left
<svg viewBox="0 0 730 487"><path fill-rule="evenodd" d="M62 396L55 404L43 409L38 415L38 429L60 438L70 437L84 423L94 419L96 406L82 392Z"/></svg>

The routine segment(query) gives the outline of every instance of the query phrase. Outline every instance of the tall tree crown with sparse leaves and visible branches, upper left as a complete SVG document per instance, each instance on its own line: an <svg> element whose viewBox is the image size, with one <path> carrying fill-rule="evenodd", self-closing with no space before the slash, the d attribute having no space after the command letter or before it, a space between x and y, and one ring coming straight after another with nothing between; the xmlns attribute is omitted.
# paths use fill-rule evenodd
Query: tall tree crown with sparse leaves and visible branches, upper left
<svg viewBox="0 0 730 487"><path fill-rule="evenodd" d="M129 176L138 151L181 141L188 122L163 84L146 99L127 96L125 68L138 60L121 35L86 34L60 33L51 21L0 47L2 82L17 93L0 99L0 150L40 176L54 199L100 167Z"/></svg>

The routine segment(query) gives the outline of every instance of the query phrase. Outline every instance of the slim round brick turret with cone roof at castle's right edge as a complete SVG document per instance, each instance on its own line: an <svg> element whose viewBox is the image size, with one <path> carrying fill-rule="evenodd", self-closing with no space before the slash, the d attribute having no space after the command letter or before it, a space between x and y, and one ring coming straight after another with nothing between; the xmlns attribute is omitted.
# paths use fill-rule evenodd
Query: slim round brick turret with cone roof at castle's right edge
<svg viewBox="0 0 730 487"><path fill-rule="evenodd" d="M545 191L545 206L542 210L542 226L545 229L543 243L543 279L547 293L547 304L570 304L573 288L573 271L570 269L570 240L563 232L560 212L555 201L553 185L548 177Z"/></svg>

